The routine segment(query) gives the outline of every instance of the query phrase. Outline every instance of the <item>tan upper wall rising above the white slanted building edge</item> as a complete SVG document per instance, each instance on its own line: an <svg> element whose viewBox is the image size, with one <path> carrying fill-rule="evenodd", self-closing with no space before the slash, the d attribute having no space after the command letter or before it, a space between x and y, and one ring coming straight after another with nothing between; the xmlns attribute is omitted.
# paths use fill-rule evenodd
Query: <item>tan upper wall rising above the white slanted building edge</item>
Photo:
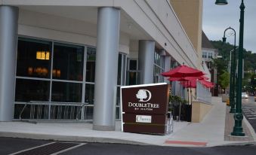
<svg viewBox="0 0 256 155"><path fill-rule="evenodd" d="M199 55L198 68L202 62L202 0L170 0L181 25Z"/></svg>

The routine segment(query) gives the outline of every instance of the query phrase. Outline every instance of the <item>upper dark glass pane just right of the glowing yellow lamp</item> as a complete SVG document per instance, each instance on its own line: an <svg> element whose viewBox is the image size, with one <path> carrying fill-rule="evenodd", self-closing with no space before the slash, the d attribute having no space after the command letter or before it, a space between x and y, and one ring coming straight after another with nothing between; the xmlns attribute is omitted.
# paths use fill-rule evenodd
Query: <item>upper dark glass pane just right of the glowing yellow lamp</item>
<svg viewBox="0 0 256 155"><path fill-rule="evenodd" d="M82 81L84 47L54 43L52 78Z"/></svg>

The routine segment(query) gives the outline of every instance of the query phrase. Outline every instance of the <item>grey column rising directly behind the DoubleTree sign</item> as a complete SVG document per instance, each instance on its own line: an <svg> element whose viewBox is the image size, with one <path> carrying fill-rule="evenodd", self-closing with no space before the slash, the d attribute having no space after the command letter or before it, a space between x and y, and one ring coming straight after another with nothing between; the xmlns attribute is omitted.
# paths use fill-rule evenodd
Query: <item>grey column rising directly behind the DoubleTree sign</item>
<svg viewBox="0 0 256 155"><path fill-rule="evenodd" d="M139 41L140 84L153 83L155 41Z"/></svg>

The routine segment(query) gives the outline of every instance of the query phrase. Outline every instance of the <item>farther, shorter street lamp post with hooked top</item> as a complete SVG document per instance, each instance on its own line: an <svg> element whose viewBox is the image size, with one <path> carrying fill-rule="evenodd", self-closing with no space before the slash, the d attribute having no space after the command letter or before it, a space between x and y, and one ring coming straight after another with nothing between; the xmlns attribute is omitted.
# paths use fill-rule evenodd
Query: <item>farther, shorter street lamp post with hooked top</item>
<svg viewBox="0 0 256 155"><path fill-rule="evenodd" d="M236 84L236 71L235 71L235 66L236 66L236 31L235 29L229 27L225 29L224 31L224 36L222 38L223 42L226 42L226 32L227 30L233 30L234 32L234 49L230 51L230 113L235 113L236 112L236 101L235 101L235 94L236 94L236 89L235 89L235 84ZM232 53L233 51L233 53Z"/></svg>

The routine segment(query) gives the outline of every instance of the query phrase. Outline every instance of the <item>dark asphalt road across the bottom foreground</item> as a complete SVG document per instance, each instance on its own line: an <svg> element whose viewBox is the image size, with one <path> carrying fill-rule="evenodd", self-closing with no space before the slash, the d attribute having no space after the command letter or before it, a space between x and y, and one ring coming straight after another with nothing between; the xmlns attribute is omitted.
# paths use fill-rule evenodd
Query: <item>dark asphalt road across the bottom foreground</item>
<svg viewBox="0 0 256 155"><path fill-rule="evenodd" d="M54 143L62 143L57 141L40 141L23 138L0 138L0 154L35 154L48 155L51 154L53 147L46 148L46 145ZM76 142L71 142L72 144ZM80 144L80 145L79 145ZM190 155L254 155L256 145L240 145L240 146L220 146L220 147L161 147L161 146L142 146L132 144L101 144L101 143L79 143L79 147L69 147L66 150L60 150L53 154L61 155L137 155L137 154L190 154ZM56 144L55 144L56 146ZM60 144L59 144L60 146ZM37 148L35 148L37 147ZM32 149L34 148L33 152ZM55 149L56 147L54 147ZM21 152L26 150L27 152ZM30 152L28 152L30 151Z"/></svg>

